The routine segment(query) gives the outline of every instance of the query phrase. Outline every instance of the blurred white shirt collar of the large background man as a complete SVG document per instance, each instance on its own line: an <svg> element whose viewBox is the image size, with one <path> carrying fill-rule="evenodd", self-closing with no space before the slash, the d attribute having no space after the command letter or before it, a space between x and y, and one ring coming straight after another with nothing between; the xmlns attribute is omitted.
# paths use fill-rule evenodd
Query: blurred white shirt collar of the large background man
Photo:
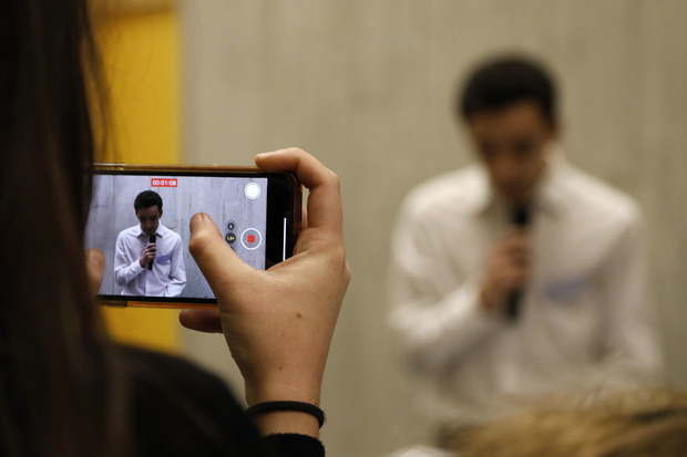
<svg viewBox="0 0 687 457"><path fill-rule="evenodd" d="M565 204L565 196L561 186L562 175L566 167L565 154L558 145L552 146L548 154L544 175L533 191L533 201L537 210L555 215ZM479 164L479 181L468 201L469 207L475 215L484 215L490 210L503 208L505 202L494 191L489 180L489 173L483 164Z"/></svg>

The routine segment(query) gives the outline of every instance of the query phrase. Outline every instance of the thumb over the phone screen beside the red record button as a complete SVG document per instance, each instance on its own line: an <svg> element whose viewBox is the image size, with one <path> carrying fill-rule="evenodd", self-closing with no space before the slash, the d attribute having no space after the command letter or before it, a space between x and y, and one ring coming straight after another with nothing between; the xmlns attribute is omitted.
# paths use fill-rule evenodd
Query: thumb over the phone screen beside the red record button
<svg viewBox="0 0 687 457"><path fill-rule="evenodd" d="M206 214L198 212L191 219L188 251L217 298L221 292L240 285L254 273L253 268L240 260L227 245L213 219Z"/></svg>

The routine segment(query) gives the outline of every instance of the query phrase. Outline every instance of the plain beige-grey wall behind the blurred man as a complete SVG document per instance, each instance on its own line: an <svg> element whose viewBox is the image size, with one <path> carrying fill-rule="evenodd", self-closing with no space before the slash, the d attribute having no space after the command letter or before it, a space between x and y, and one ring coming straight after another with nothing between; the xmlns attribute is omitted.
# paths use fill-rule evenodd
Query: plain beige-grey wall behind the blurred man
<svg viewBox="0 0 687 457"><path fill-rule="evenodd" d="M326 375L329 455L377 456L422 435L384 328L389 232L411 186L471 160L451 96L493 51L531 51L557 70L570 159L644 205L669 375L687 385L687 2L187 0L182 10L187 160L248 164L298 145L342 179L353 280ZM184 337L236 380L222 336Z"/></svg>

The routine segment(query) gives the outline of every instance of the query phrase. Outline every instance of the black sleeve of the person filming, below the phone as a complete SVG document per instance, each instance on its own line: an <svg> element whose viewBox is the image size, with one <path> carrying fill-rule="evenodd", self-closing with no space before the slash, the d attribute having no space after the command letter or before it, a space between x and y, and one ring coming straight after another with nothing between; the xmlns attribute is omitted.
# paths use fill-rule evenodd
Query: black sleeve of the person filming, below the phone
<svg viewBox="0 0 687 457"><path fill-rule="evenodd" d="M296 434L263 438L217 377L178 357L122 347L139 456L322 457Z"/></svg>

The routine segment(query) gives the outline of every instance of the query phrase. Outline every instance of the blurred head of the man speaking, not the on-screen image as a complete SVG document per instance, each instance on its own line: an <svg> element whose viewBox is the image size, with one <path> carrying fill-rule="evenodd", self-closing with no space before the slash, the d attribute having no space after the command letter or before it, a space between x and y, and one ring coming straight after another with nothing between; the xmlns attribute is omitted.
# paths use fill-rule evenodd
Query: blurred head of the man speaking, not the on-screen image
<svg viewBox="0 0 687 457"><path fill-rule="evenodd" d="M494 189L507 201L526 200L558 134L552 76L527 59L492 60L473 71L457 102Z"/></svg>

